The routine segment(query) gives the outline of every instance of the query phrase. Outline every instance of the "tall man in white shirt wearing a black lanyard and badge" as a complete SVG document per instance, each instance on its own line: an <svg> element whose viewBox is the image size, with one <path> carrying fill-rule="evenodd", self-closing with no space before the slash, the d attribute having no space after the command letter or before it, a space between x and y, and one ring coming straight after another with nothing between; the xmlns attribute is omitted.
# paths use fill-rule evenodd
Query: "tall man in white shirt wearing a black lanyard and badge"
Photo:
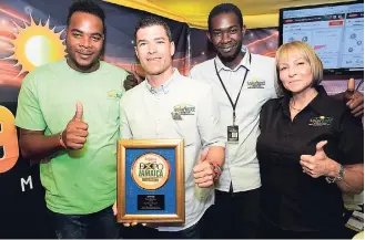
<svg viewBox="0 0 365 240"><path fill-rule="evenodd" d="M217 56L190 73L213 87L221 112L220 129L227 139L225 164L215 185L215 205L204 218L210 238L256 238L258 228L256 139L261 107L276 97L275 65L271 58L241 51L245 31L236 6L216 6L209 15L207 38Z"/></svg>

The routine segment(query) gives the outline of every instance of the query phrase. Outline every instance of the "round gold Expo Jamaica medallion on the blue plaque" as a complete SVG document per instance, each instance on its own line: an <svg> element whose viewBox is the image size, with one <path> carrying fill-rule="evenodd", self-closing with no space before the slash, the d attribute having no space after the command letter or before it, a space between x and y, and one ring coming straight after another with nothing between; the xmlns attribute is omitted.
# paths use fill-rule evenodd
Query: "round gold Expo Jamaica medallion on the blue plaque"
<svg viewBox="0 0 365 240"><path fill-rule="evenodd" d="M142 189L156 190L170 178L170 164L159 154L143 154L132 164L132 178Z"/></svg>

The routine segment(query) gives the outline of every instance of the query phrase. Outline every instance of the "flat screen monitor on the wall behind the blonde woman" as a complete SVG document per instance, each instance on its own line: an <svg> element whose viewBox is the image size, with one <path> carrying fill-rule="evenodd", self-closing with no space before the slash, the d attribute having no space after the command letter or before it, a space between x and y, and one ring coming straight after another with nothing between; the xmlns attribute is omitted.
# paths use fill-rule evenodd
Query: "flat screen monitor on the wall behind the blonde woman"
<svg viewBox="0 0 365 240"><path fill-rule="evenodd" d="M342 2L280 10L280 44L303 41L321 58L325 75L364 75L364 3Z"/></svg>

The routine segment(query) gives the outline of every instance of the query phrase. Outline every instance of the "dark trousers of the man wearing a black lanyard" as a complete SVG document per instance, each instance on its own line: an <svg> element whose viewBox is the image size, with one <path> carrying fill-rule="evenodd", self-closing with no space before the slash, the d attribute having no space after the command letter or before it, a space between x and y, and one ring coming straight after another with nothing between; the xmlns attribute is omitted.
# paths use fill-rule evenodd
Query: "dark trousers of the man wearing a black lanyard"
<svg viewBox="0 0 365 240"><path fill-rule="evenodd" d="M202 237L254 239L260 223L260 189L242 192L215 190L215 204L203 218Z"/></svg>

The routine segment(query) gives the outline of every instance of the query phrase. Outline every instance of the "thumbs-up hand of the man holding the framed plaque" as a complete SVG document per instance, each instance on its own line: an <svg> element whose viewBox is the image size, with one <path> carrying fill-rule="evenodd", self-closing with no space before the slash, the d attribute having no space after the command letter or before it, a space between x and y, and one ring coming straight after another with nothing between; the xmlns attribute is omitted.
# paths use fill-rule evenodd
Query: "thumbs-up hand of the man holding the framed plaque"
<svg viewBox="0 0 365 240"><path fill-rule="evenodd" d="M211 187L214 184L214 168L206 159L209 148L205 148L202 153L197 164L193 168L193 176L195 184L201 188Z"/></svg>

